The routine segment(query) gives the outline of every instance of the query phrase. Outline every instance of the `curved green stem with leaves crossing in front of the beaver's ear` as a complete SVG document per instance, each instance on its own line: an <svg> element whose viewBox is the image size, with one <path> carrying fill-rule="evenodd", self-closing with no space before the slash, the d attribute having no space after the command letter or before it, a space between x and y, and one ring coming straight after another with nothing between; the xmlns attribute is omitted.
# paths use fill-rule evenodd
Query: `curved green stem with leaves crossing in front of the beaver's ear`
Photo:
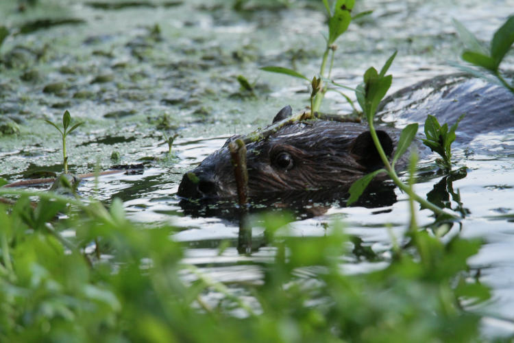
<svg viewBox="0 0 514 343"><path fill-rule="evenodd" d="M389 87L391 86L393 76L386 75L386 73L391 66L395 56L396 51L393 55L391 55L391 57L389 57L387 62L385 62L384 67L382 67L380 70L380 73L374 67L367 69L364 74L364 82L359 84L356 89L357 101L360 104L360 107L363 108L369 126L371 138L373 139L378 154L380 155L382 163L384 164L384 168L373 171L370 174L363 176L363 178L356 180L352 187L350 187L350 198L347 200L347 204L350 205L356 202L356 200L358 200L360 195L366 189L367 185L369 185L369 182L371 182L371 180L373 180L373 178L375 178L375 176L378 174L385 172L389 178L391 178L395 184L400 189L402 189L402 191L406 192L409 197L415 199L422 206L430 209L437 215L450 215L449 213L445 213L445 211L440 209L435 204L428 202L424 198L421 198L416 193L414 193L412 188L408 187L408 185L405 185L396 174L395 163L398 161L398 158L400 158L400 156L402 156L407 151L408 147L411 145L413 139L415 138L418 128L417 123L409 124L402 130L400 133L400 139L397 143L395 154L391 162L389 162L389 158L385 154L384 149L380 144L380 140L378 139L378 135L374 126L374 117L378 104L386 95ZM450 215L450 217L454 216Z"/></svg>

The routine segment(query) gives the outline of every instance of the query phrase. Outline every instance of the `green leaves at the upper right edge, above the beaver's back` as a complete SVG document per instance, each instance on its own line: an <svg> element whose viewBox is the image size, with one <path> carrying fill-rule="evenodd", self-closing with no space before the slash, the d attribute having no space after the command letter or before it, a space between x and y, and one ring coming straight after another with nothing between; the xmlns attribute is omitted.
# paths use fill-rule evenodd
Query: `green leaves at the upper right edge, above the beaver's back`
<svg viewBox="0 0 514 343"><path fill-rule="evenodd" d="M462 54L463 60L485 69L485 71L494 75L502 86L514 93L514 79L509 84L500 72L500 64L514 43L514 16L509 16L505 23L494 33L489 49L485 48L460 21L454 19L454 25L466 48ZM486 75L471 72L487 78Z"/></svg>

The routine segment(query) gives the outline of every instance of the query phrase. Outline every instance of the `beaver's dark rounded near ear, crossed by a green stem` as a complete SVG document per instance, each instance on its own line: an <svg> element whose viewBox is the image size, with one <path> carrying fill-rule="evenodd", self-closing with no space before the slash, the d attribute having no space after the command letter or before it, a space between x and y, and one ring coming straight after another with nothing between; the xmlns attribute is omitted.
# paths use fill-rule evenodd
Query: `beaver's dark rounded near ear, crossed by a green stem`
<svg viewBox="0 0 514 343"><path fill-rule="evenodd" d="M382 145L382 148L384 149L385 154L388 157L391 157L391 154L394 150L393 140L385 131L377 130L376 134L378 136L378 141L380 141L380 145ZM376 150L375 144L373 143L373 138L371 138L371 133L369 133L369 131L365 131L358 135L354 141L352 150L350 151L352 154L357 156L356 161L367 169L374 170L383 166L382 159Z"/></svg>

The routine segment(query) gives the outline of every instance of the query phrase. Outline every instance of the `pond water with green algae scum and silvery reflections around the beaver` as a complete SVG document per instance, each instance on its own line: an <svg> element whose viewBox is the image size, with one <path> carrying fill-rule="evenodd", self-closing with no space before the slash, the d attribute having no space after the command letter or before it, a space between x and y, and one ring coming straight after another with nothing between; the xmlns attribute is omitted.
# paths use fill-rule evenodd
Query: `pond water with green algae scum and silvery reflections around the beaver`
<svg viewBox="0 0 514 343"><path fill-rule="evenodd" d="M173 238L187 244L186 262L219 281L259 282L258 266L237 264L272 260L258 225L253 234L262 246L240 256L234 209L217 216L186 215L175 193L184 172L232 134L266 126L286 104L295 111L308 105L305 82L258 68L281 65L317 73L325 44L321 1L291 1L289 8L248 1L252 10L241 12L222 0L106 3L40 0L20 8L17 1L1 1L0 23L11 35L0 47L0 125L14 121L20 132L0 137L0 176L14 182L32 171L60 171L60 137L42 119L58 122L69 110L74 120L85 121L68 139L75 173L93 171L97 164L101 169L145 164L140 175L102 177L99 191L92 180L84 181L79 188L84 196L106 202L118 197L136 221L177 226ZM452 62L458 62L462 46L452 18L489 41L513 8L509 0L357 1L356 12L374 12L352 23L338 40L332 76L356 86L368 67L381 66L394 50L390 92L454 73ZM503 69L513 69L512 57ZM253 94L241 90L238 75L255 82ZM343 114L351 108L340 95L328 93L321 110ZM163 132L179 134L171 158ZM447 236L484 239L470 261L493 288L483 310L506 320L493 323L496 329L514 333L508 324L514 321L514 128L456 145L454 158L458 167L467 167L467 176L452 185L461 204L448 204L467 215ZM112 152L121 159L112 161ZM432 172L434 158L421 163L426 172L416 185L419 194L441 181ZM298 217L290 234L324 235L328 224L342 220L347 233L377 257L348 257L348 272L381 268L389 258L390 232L400 237L408 224L406 196L395 193L397 202L378 209L326 206L316 217ZM432 217L419 211L418 221L430 224ZM219 254L222 241L229 246Z"/></svg>

